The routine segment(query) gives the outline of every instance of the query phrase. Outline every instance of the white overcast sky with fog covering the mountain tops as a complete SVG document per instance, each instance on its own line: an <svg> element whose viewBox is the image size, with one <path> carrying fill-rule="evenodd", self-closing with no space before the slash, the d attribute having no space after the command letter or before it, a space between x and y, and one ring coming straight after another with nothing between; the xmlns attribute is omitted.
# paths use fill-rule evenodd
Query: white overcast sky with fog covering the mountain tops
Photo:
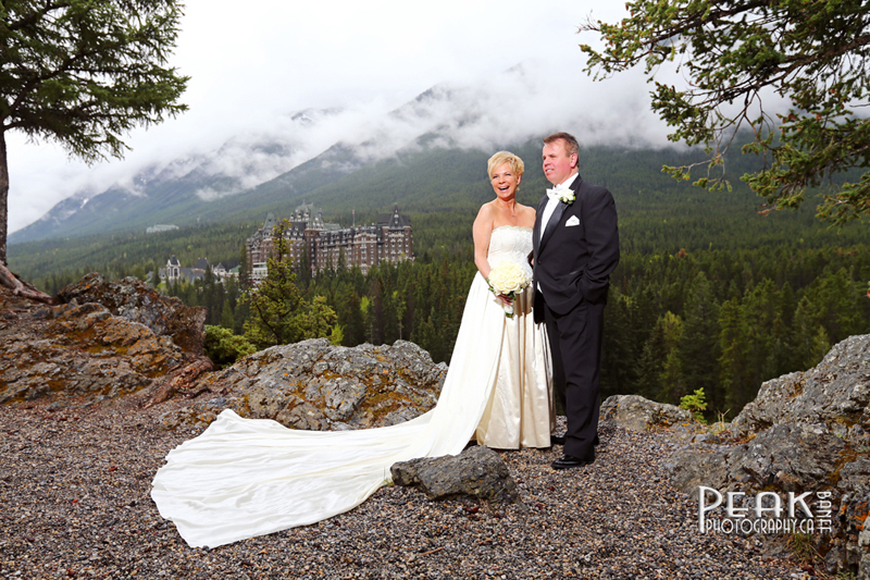
<svg viewBox="0 0 870 580"><path fill-rule="evenodd" d="M9 133L10 232L40 217L45 225L62 222L109 190L145 209L137 200L159 184L169 195L172 180L175 197L220 201L315 159L348 163L347 156L319 157L337 144L352 148L353 166L403 147L489 151L552 129L593 145L668 146L649 111L654 87L641 71L602 83L583 72L577 45L601 41L579 35L577 25L588 17L618 22L627 14L620 2L184 5L170 62L190 75L182 97L189 110L133 129L125 159L90 166L51 140ZM663 66L657 79L685 86L678 64ZM765 97L765 106L775 100Z"/></svg>

